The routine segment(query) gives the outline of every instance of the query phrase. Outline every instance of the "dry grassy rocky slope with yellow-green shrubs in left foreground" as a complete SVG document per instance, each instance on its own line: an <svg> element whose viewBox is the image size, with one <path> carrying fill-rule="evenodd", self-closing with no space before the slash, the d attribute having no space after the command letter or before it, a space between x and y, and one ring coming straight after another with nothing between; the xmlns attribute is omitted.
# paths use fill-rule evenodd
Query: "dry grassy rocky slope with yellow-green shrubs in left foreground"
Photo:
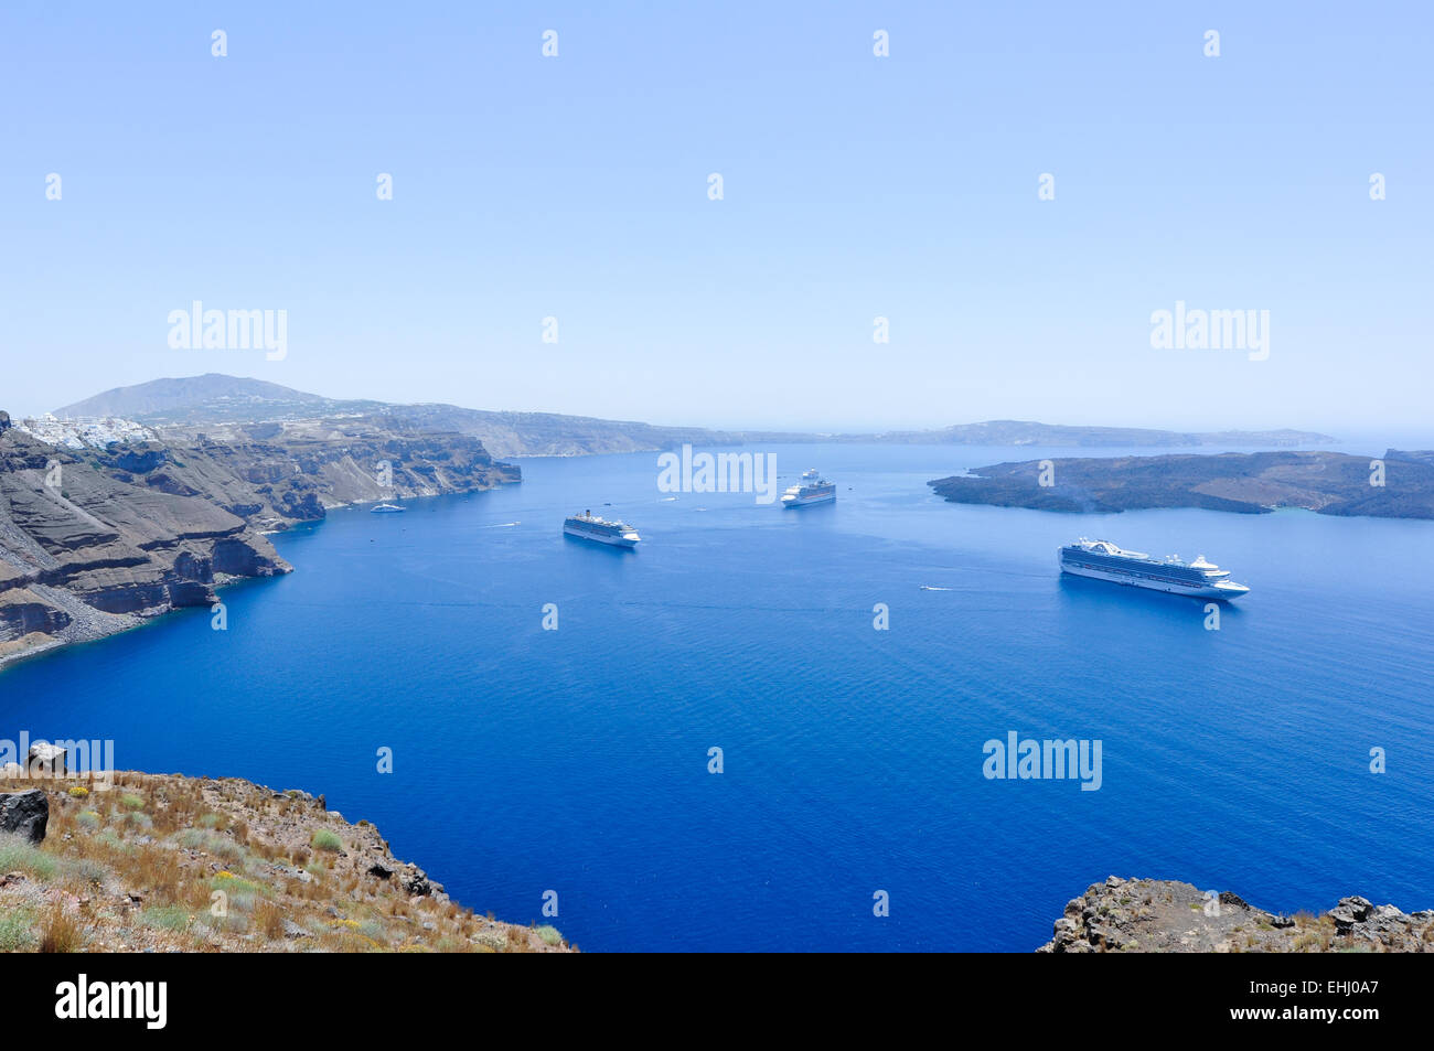
<svg viewBox="0 0 1434 1051"><path fill-rule="evenodd" d="M119 773L0 783L0 951L569 952L453 902L324 797ZM10 827L10 826L14 827Z"/></svg>

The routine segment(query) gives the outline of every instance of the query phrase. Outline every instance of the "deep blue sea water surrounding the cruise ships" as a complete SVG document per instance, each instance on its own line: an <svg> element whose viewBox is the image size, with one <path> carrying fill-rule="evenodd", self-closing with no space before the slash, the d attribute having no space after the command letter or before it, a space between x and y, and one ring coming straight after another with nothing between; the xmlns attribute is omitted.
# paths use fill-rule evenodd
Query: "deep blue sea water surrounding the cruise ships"
<svg viewBox="0 0 1434 1051"><path fill-rule="evenodd" d="M556 890L585 951L1028 952L1110 873L1434 908L1434 522L956 506L926 480L1071 450L764 452L837 503L665 499L644 453L334 512L224 592L227 632L191 611L0 672L0 737L324 793L479 912L545 922ZM564 538L584 508L640 549ZM1063 579L1077 535L1253 591L1207 631ZM982 777L1011 730L1100 740L1100 790Z"/></svg>

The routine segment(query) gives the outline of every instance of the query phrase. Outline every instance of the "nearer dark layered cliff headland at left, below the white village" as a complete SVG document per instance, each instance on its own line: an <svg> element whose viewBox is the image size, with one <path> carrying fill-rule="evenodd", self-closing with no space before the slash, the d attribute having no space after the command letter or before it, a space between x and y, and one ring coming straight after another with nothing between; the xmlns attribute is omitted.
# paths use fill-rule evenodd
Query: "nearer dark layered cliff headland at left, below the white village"
<svg viewBox="0 0 1434 1051"><path fill-rule="evenodd" d="M231 578L288 571L244 518L208 499L0 432L0 662L209 605Z"/></svg>

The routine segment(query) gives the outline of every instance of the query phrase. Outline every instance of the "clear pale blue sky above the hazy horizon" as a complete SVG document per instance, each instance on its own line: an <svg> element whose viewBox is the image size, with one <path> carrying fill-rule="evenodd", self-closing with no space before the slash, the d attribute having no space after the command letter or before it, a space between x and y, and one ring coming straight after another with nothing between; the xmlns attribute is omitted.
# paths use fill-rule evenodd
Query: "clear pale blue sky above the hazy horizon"
<svg viewBox="0 0 1434 1051"><path fill-rule="evenodd" d="M10 0L0 406L227 371L713 426L1410 429L1431 29L1427 3ZM192 300L287 310L288 357L172 350ZM1269 310L1269 360L1153 350L1176 300Z"/></svg>

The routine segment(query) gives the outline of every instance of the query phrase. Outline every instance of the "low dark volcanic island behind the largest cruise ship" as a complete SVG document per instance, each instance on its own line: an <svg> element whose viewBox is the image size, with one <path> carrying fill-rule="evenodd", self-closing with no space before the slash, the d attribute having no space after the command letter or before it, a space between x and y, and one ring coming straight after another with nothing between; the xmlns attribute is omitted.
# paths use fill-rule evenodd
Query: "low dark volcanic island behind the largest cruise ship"
<svg viewBox="0 0 1434 1051"><path fill-rule="evenodd" d="M1206 508L1260 515L1434 518L1434 453L1384 460L1329 452L1113 456L972 467L928 485L952 503L1074 513ZM1043 483L1045 479L1045 483Z"/></svg>

